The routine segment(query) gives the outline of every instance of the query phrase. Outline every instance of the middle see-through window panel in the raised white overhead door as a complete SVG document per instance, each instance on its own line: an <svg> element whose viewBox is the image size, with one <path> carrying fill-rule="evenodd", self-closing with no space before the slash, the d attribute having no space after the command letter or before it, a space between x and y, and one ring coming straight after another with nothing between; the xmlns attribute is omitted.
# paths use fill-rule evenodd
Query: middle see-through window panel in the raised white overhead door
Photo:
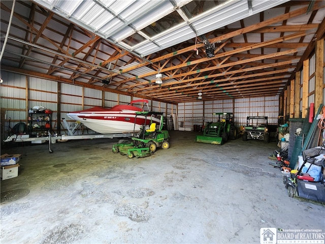
<svg viewBox="0 0 325 244"><path fill-rule="evenodd" d="M184 19L174 11L169 15L160 18L159 20L151 23L147 27L141 29L143 33L145 33L149 37L153 37L158 35L159 33L165 32L168 29L184 22Z"/></svg>

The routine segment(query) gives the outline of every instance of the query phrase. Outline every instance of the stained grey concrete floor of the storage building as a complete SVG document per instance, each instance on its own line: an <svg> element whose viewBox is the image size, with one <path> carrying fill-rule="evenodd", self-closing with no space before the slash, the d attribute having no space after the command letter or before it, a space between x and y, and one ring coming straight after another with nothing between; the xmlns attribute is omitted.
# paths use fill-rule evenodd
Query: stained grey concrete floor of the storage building
<svg viewBox="0 0 325 244"><path fill-rule="evenodd" d="M169 149L139 159L113 154L117 139L2 149L22 158L18 177L1 181L1 243L260 243L265 227L325 231L324 206L289 198L269 165L276 142L170 134ZM25 196L6 202L8 192Z"/></svg>

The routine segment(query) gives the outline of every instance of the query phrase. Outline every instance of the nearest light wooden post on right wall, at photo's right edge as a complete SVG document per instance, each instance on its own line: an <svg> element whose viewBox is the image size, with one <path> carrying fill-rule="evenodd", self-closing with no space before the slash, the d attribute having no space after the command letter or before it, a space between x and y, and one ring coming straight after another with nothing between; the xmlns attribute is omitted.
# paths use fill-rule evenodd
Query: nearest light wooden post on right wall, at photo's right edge
<svg viewBox="0 0 325 244"><path fill-rule="evenodd" d="M316 42L315 56L315 108L318 108L323 103L324 39Z"/></svg>

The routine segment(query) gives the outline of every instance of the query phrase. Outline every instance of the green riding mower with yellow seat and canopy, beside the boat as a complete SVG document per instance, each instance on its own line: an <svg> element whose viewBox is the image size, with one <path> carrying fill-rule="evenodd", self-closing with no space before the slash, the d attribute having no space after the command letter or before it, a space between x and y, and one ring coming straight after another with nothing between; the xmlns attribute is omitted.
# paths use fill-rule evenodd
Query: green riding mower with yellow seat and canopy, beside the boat
<svg viewBox="0 0 325 244"><path fill-rule="evenodd" d="M146 127L147 117L151 117L150 127ZM145 117L145 123L140 127L138 134L130 140L121 140L118 144L113 145L113 153L120 153L121 155L127 155L127 158L132 159L134 157L147 157L153 154L157 147L168 149L169 133L163 130L164 116L160 112L136 112L135 124L137 117ZM160 117L160 124L152 122L153 117ZM156 128L158 127L158 128ZM135 135L135 133L134 133Z"/></svg>

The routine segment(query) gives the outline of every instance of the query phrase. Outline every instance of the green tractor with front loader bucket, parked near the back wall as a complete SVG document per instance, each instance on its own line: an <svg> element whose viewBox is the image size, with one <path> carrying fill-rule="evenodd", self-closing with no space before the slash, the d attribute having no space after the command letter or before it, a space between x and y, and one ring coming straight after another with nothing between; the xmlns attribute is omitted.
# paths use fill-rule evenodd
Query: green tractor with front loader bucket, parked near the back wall
<svg viewBox="0 0 325 244"><path fill-rule="evenodd" d="M237 138L237 130L234 124L233 113L213 113L218 115L217 122L208 122L204 128L203 136L196 136L196 142L210 143L222 145L228 139L235 140Z"/></svg>

